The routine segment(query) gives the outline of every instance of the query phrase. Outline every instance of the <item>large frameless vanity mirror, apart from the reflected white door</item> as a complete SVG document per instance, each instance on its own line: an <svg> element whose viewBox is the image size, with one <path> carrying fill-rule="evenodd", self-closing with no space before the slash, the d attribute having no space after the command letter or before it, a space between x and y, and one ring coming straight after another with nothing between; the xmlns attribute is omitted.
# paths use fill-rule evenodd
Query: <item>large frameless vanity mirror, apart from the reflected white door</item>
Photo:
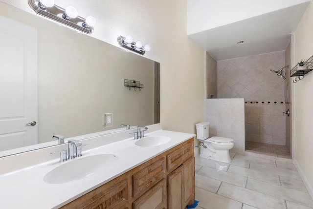
<svg viewBox="0 0 313 209"><path fill-rule="evenodd" d="M56 134L69 138L159 123L159 63L2 2L0 16L37 31L38 145L27 150L57 145ZM143 87L125 86L125 79ZM105 125L107 113L111 126ZM0 157L26 150L3 147Z"/></svg>

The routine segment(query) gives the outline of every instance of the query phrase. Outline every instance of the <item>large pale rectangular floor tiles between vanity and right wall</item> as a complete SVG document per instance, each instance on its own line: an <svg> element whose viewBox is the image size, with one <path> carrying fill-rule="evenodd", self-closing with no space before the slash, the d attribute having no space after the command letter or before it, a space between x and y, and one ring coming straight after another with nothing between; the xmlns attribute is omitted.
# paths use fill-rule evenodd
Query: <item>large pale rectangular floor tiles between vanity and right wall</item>
<svg viewBox="0 0 313 209"><path fill-rule="evenodd" d="M196 155L196 209L313 209L290 159L230 154L230 164Z"/></svg>

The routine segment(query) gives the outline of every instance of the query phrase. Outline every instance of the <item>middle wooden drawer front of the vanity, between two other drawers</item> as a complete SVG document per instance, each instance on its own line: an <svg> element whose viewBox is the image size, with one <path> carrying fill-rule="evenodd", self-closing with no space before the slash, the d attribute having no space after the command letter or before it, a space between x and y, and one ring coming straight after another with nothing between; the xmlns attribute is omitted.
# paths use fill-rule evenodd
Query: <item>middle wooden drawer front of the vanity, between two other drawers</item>
<svg viewBox="0 0 313 209"><path fill-rule="evenodd" d="M145 164L143 164L145 165ZM142 194L152 188L165 176L165 158L161 158L148 166L140 167L137 172L132 175L133 197Z"/></svg>

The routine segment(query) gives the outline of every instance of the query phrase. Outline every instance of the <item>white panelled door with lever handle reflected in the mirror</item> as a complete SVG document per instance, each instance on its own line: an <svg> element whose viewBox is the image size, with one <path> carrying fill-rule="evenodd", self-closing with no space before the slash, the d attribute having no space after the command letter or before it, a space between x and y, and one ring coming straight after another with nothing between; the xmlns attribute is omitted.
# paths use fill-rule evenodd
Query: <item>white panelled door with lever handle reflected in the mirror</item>
<svg viewBox="0 0 313 209"><path fill-rule="evenodd" d="M0 151L37 144L37 29L0 16ZM29 124L29 125L26 125Z"/></svg>

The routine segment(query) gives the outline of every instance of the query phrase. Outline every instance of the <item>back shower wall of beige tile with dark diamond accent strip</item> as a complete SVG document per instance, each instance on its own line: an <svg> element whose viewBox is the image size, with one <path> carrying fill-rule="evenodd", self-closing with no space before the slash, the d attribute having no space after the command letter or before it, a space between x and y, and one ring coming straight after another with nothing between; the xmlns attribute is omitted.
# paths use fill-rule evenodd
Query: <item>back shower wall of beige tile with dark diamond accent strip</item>
<svg viewBox="0 0 313 209"><path fill-rule="evenodd" d="M218 61L218 98L247 102L246 141L285 145L285 80L269 70L284 66L284 51Z"/></svg>

